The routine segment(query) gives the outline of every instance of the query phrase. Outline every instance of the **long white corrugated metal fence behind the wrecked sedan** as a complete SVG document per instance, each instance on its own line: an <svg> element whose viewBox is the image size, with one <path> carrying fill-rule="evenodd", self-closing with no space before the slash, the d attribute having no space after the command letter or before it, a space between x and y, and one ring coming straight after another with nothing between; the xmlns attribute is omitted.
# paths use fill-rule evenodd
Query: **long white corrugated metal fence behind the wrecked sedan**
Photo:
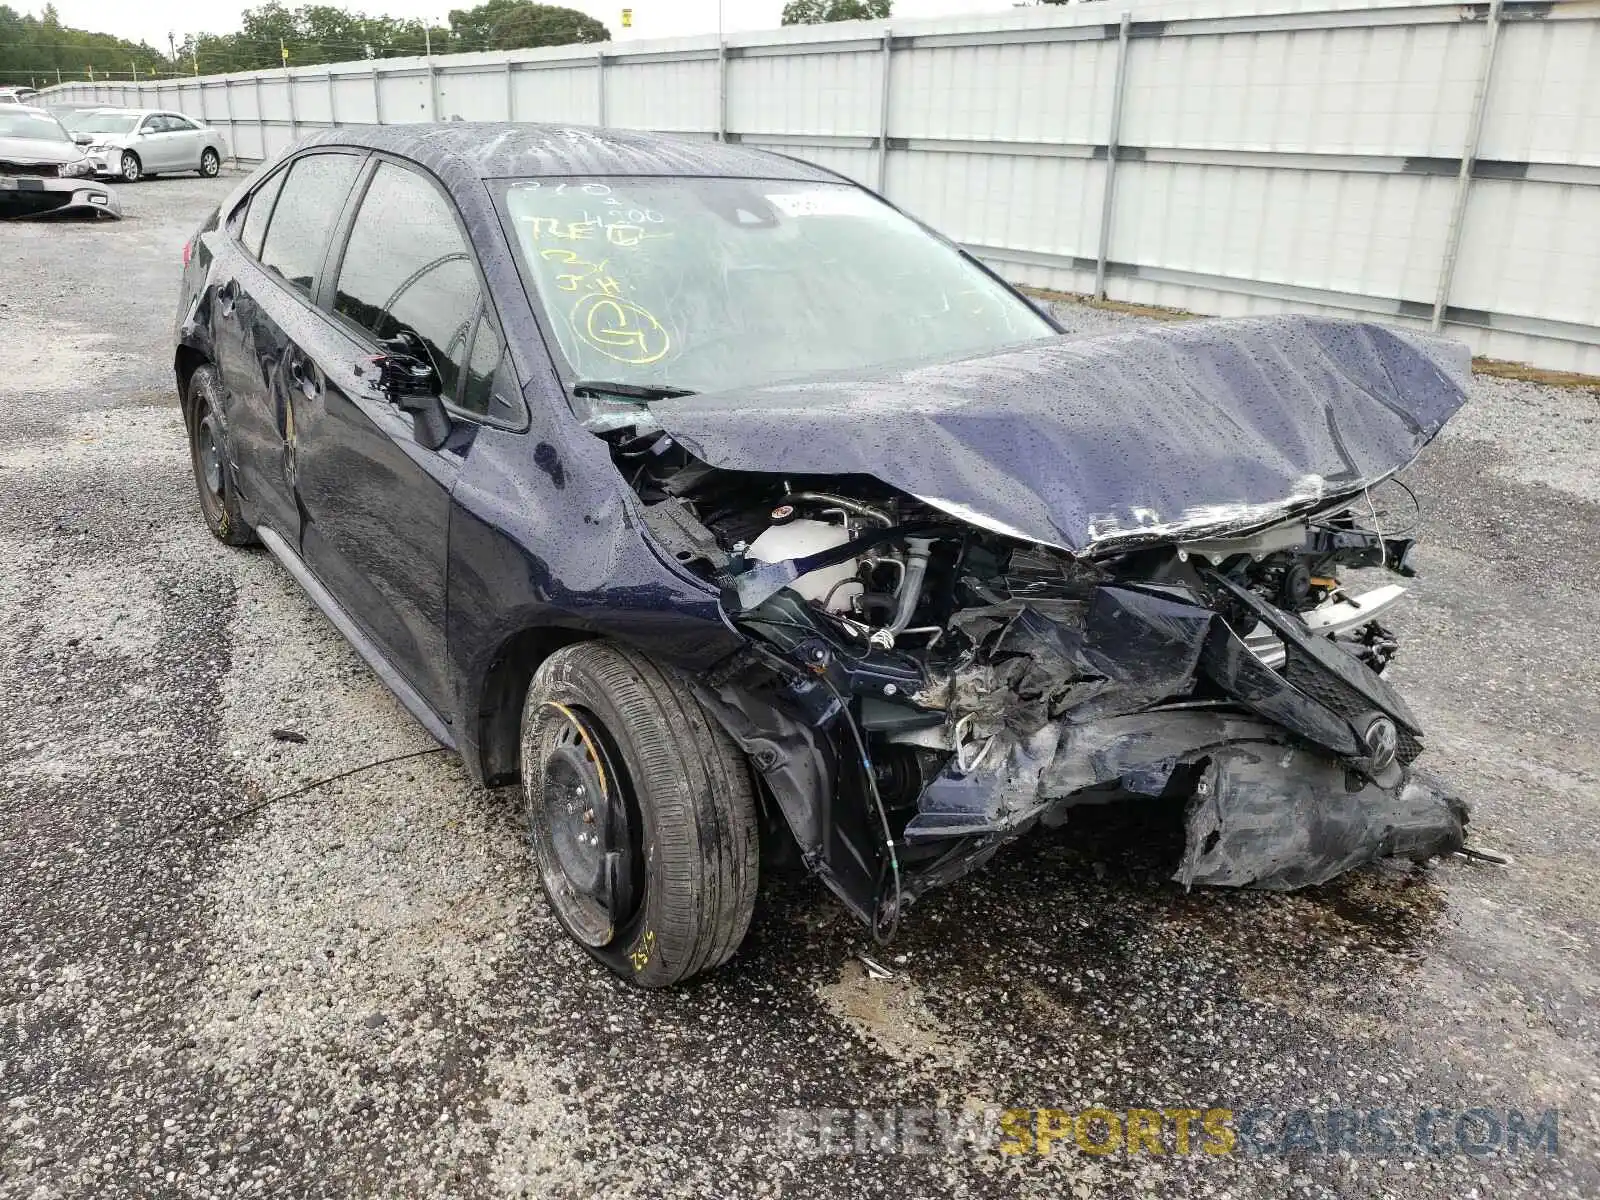
<svg viewBox="0 0 1600 1200"><path fill-rule="evenodd" d="M725 138L850 174L1008 277L1358 312L1600 373L1600 10L1190 0L290 67L48 98L245 158L339 123Z"/></svg>

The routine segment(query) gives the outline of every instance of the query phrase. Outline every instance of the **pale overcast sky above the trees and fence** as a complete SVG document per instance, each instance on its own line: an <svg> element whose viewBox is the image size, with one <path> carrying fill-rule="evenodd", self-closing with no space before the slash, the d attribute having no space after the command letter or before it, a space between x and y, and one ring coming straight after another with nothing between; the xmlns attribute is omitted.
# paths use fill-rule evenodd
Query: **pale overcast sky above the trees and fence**
<svg viewBox="0 0 1600 1200"><path fill-rule="evenodd" d="M325 3L330 0L323 0ZM558 2L558 0L552 0ZM43 0L11 0L14 8L35 16ZM179 42L184 34L234 34L238 18L259 0L56 0L61 24L117 34L130 42L149 42L165 48L166 34ZM299 8L304 0L285 0L286 8ZM565 0L603 21L618 42L637 37L682 37L710 34L717 29L717 0L627 0L634 10L634 27L622 29L624 0ZM1014 0L894 0L894 16L944 16L1013 8ZM344 5L373 16L432 18L445 24L451 8L470 8L472 0L354 0ZM725 30L773 29L779 24L782 0L723 0Z"/></svg>

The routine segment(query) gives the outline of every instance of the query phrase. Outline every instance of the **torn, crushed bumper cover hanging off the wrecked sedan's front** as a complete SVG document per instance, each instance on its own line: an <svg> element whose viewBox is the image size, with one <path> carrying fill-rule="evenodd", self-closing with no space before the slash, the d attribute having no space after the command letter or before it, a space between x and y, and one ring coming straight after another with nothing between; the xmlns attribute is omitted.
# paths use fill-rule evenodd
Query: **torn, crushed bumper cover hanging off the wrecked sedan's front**
<svg viewBox="0 0 1600 1200"><path fill-rule="evenodd" d="M1112 789L1189 797L1174 875L1186 886L1299 888L1459 850L1466 808L1410 770L1421 730L1398 694L1258 597L1211 582L1283 638L1282 672L1219 613L1160 589L1101 587L1082 626L1024 608L987 658L1026 662L1027 677L987 693L982 750L930 782L906 840L1006 840ZM1146 707L1195 683L1222 696ZM946 688L982 691L958 675Z"/></svg>

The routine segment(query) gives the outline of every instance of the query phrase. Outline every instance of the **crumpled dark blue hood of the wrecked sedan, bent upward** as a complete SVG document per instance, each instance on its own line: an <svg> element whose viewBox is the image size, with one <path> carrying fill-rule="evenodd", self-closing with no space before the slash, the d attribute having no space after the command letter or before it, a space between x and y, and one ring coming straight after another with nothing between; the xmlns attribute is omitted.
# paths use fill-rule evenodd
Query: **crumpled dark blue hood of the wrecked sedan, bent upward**
<svg viewBox="0 0 1600 1200"><path fill-rule="evenodd" d="M651 405L714 467L872 475L1082 552L1198 538L1358 493L1461 408L1464 346L1251 317L1054 338L979 358Z"/></svg>

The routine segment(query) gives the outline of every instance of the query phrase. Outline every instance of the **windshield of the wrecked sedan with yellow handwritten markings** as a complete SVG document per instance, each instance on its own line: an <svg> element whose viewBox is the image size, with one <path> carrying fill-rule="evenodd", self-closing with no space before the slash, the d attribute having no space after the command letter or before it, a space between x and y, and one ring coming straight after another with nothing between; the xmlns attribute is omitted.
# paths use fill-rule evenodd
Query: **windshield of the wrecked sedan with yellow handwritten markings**
<svg viewBox="0 0 1600 1200"><path fill-rule="evenodd" d="M504 198L579 379L712 392L1054 336L848 184L530 179Z"/></svg>

